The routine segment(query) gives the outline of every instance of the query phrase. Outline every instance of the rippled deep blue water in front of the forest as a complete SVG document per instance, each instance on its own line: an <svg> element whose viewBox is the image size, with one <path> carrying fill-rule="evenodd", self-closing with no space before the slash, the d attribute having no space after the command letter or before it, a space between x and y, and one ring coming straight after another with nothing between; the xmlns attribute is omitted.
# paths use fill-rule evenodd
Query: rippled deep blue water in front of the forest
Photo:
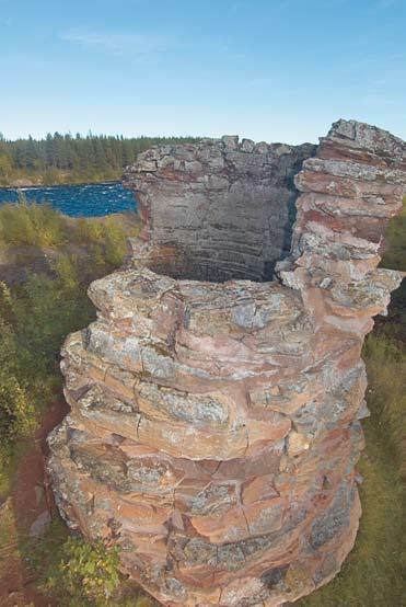
<svg viewBox="0 0 406 607"><path fill-rule="evenodd" d="M0 205L18 202L19 192L24 194L28 202L48 203L71 217L96 217L136 209L132 193L125 190L120 183L21 187L19 190L0 187Z"/></svg>

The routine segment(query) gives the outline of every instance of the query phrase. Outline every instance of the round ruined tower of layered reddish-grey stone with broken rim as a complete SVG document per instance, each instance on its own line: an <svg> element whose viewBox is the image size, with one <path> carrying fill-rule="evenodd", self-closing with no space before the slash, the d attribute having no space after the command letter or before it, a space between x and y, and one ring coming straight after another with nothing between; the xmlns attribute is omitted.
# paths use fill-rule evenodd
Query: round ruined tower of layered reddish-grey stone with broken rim
<svg viewBox="0 0 406 607"><path fill-rule="evenodd" d="M339 121L317 147L153 148L125 183L141 236L62 351L59 509L165 606L294 602L358 529L361 347L403 277L376 266L406 145Z"/></svg>

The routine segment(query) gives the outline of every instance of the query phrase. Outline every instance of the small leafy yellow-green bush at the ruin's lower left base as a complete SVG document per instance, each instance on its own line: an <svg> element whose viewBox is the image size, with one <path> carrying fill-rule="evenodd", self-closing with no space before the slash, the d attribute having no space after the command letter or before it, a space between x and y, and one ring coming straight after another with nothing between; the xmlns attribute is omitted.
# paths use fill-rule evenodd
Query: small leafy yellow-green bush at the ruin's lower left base
<svg viewBox="0 0 406 607"><path fill-rule="evenodd" d="M117 548L68 538L59 562L48 572L45 588L61 606L108 605L120 583L118 565Z"/></svg>

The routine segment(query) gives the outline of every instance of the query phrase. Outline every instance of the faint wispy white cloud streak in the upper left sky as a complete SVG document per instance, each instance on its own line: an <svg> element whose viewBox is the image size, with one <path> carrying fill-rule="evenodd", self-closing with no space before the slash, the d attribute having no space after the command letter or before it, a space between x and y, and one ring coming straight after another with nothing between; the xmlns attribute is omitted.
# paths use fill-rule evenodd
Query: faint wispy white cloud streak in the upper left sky
<svg viewBox="0 0 406 607"><path fill-rule="evenodd" d="M124 31L74 27L62 32L60 38L96 51L132 58L163 53L166 48L166 41L162 37Z"/></svg>

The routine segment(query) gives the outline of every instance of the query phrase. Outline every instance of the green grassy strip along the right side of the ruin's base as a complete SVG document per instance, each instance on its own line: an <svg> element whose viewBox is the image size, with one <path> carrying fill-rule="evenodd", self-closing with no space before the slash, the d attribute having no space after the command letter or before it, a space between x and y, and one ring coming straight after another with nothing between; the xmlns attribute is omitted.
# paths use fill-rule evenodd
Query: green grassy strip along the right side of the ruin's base
<svg viewBox="0 0 406 607"><path fill-rule="evenodd" d="M363 356L371 417L358 465L364 478L360 530L340 574L300 600L301 607L405 605L406 347L380 328L369 335Z"/></svg>

